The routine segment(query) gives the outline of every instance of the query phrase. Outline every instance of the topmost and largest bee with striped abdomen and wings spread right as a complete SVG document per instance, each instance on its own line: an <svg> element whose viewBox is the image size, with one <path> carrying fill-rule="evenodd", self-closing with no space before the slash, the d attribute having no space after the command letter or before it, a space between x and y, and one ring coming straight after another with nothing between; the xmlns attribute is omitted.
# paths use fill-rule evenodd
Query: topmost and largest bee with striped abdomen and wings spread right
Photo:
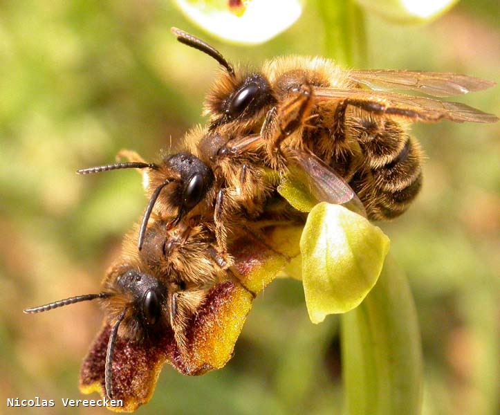
<svg viewBox="0 0 500 415"><path fill-rule="evenodd" d="M266 165L281 173L298 167L320 200L362 203L369 219L396 218L420 190L423 151L410 136L411 122L498 120L465 104L389 91L444 98L494 85L476 77L344 71L330 59L299 56L242 69L201 39L177 28L172 32L222 66L204 104L209 131L257 135L251 146L263 148ZM233 147L244 152L246 145Z"/></svg>

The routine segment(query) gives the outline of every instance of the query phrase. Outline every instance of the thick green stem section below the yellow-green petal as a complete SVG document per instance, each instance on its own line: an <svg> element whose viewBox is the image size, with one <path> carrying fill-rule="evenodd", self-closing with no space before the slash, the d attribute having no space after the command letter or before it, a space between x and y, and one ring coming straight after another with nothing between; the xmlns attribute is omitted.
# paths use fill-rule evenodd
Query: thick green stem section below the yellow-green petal
<svg viewBox="0 0 500 415"><path fill-rule="evenodd" d="M341 316L346 414L420 414L420 333L405 275L390 257L364 302Z"/></svg>

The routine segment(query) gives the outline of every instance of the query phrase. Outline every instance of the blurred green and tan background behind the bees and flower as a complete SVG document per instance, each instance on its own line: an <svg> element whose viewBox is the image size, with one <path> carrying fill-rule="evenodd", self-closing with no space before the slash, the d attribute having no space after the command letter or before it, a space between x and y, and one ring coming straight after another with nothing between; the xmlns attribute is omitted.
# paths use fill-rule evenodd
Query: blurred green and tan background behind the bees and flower
<svg viewBox="0 0 500 415"><path fill-rule="evenodd" d="M499 81L498 3L462 1L428 26L367 16L371 68L452 71ZM100 328L97 304L41 315L27 306L94 293L145 199L135 172L77 176L122 148L148 160L201 118L212 59L178 44L178 26L232 62L335 53L322 11L263 46L210 39L169 1L0 3L0 413L65 409ZM315 33L311 34L311 28ZM338 30L338 28L335 28ZM327 47L327 46L328 47ZM459 98L500 114L498 87ZM382 224L416 297L425 359L424 414L496 414L499 385L500 124L416 125L427 152L413 207ZM254 302L234 358L198 378L165 367L138 414L341 414L337 320L313 326L302 286L274 282ZM10 409L6 398L55 399ZM98 398L97 394L91 396Z"/></svg>

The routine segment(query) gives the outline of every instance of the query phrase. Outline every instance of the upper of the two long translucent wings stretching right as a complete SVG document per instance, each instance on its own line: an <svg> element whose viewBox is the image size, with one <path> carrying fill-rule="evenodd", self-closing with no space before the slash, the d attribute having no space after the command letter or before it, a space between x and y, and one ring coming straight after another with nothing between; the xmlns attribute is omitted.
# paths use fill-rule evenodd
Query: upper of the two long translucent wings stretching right
<svg viewBox="0 0 500 415"><path fill-rule="evenodd" d="M481 91L495 85L495 82L478 77L450 72L375 69L349 71L349 77L374 90L407 89L440 98Z"/></svg>

